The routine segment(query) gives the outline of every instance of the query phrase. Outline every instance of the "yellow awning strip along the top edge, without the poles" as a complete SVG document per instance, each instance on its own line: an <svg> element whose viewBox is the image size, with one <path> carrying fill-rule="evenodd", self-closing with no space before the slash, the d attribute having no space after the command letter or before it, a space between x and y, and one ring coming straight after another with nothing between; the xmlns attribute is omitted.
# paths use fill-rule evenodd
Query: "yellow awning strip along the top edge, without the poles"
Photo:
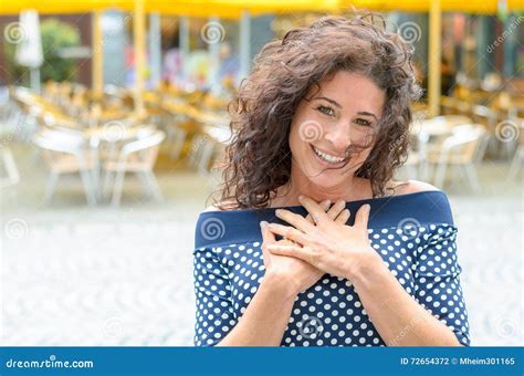
<svg viewBox="0 0 524 376"><path fill-rule="evenodd" d="M263 13L293 13L301 11L334 12L352 6L376 11L426 12L430 0L143 0L146 12L192 17L238 18L243 10ZM500 0L441 0L442 11L496 13ZM102 9L132 11L134 0L2 0L0 14L17 14L24 9L40 13L85 13ZM524 0L507 0L509 11L524 10Z"/></svg>

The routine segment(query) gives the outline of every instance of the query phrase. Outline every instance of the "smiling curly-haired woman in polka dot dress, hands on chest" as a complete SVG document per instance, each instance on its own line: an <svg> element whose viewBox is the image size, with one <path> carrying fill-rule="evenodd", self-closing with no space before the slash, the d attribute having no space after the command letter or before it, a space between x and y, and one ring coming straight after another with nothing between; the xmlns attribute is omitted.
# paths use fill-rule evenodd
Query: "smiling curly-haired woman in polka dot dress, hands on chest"
<svg viewBox="0 0 524 376"><path fill-rule="evenodd" d="M392 180L411 50L373 21L326 17L256 56L197 223L196 345L470 345L447 196Z"/></svg>

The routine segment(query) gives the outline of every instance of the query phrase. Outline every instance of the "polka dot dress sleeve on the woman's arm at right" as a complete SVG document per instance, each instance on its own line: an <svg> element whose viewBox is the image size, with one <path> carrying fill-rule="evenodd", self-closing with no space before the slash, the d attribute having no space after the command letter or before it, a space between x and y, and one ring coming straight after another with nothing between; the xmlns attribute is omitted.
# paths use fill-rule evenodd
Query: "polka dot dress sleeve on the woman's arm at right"
<svg viewBox="0 0 524 376"><path fill-rule="evenodd" d="M468 311L460 284L454 224L426 228L427 240L415 264L415 293L418 302L453 331L462 345L470 346Z"/></svg>

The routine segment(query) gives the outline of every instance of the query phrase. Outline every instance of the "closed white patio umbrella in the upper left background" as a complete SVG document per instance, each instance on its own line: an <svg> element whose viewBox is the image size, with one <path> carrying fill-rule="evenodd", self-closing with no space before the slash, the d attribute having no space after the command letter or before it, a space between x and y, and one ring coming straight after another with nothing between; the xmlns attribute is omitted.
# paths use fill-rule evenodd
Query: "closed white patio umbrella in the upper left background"
<svg viewBox="0 0 524 376"><path fill-rule="evenodd" d="M17 44L14 59L19 65L30 69L31 87L40 92L40 66L43 63L43 51L39 13L35 10L22 11L19 28L22 38Z"/></svg>

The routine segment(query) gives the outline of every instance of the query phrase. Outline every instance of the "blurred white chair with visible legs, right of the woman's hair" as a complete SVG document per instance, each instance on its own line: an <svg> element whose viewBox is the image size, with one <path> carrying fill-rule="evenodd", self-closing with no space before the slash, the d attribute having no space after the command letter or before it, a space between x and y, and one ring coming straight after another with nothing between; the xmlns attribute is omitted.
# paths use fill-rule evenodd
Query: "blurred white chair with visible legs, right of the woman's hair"
<svg viewBox="0 0 524 376"><path fill-rule="evenodd" d="M448 166L465 171L471 188L481 190L476 176L475 165L485 152L486 130L481 124L458 125L453 134L439 147L428 155L428 161L437 165L434 185L442 188L444 185Z"/></svg>

